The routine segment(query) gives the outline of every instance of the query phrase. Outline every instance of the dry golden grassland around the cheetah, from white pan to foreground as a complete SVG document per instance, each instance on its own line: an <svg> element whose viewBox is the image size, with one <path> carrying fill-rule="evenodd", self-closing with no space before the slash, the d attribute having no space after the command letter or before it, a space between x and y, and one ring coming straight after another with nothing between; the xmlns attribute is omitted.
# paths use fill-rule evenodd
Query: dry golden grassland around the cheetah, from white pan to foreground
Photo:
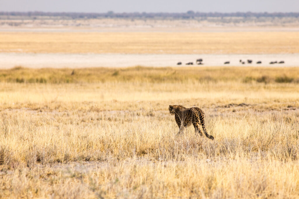
<svg viewBox="0 0 299 199"><path fill-rule="evenodd" d="M31 49L31 48L30 48ZM299 69L0 71L1 198L298 198ZM205 111L178 134L170 104Z"/></svg>

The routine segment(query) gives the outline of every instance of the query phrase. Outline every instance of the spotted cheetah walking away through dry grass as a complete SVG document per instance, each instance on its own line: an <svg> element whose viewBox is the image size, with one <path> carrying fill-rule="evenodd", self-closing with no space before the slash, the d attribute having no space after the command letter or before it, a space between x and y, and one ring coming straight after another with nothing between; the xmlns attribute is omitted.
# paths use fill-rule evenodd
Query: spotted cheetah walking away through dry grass
<svg viewBox="0 0 299 199"><path fill-rule="evenodd" d="M179 133L184 132L184 128L193 124L195 132L198 132L202 136L202 131L199 129L199 121L202 124L202 129L207 138L214 139L212 135L209 135L205 129L205 113L202 109L197 107L185 108L182 105L169 105L169 112L171 115L175 115L176 124L179 126Z"/></svg>

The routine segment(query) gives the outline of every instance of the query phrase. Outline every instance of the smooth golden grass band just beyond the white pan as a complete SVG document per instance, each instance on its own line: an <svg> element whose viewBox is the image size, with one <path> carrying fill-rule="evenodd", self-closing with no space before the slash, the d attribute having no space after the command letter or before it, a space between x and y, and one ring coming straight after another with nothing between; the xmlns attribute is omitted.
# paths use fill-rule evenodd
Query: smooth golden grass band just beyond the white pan
<svg viewBox="0 0 299 199"><path fill-rule="evenodd" d="M299 32L1 32L1 52L299 53Z"/></svg>

